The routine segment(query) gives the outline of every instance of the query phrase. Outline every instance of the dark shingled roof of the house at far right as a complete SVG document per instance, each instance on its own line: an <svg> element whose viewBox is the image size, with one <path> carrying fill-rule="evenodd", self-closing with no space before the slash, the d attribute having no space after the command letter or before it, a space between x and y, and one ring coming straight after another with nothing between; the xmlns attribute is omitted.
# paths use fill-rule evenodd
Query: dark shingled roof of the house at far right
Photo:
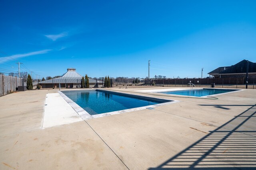
<svg viewBox="0 0 256 170"><path fill-rule="evenodd" d="M256 72L256 63L248 61L248 72ZM226 69L224 69L226 68ZM234 74L234 73L246 73L247 60L242 60L232 66L219 67L209 72L208 74Z"/></svg>

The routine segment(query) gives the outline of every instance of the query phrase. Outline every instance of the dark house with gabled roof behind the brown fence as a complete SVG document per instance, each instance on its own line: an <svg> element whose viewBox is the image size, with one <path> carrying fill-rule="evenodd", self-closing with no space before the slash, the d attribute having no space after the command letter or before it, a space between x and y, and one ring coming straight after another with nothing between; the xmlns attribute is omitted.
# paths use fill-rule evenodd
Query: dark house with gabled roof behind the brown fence
<svg viewBox="0 0 256 170"><path fill-rule="evenodd" d="M246 77L247 60L242 60L232 66L219 67L209 72L214 78ZM248 78L256 78L256 63L248 62Z"/></svg>

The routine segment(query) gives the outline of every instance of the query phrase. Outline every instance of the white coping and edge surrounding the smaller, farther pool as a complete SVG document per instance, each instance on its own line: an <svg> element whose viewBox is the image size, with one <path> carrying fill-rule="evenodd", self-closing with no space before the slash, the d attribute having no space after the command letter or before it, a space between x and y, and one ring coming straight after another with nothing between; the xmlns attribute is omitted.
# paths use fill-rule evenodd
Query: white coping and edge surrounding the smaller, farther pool
<svg viewBox="0 0 256 170"><path fill-rule="evenodd" d="M154 89L154 90L136 90L137 92L149 92L149 93L155 93L155 94L166 94L166 93L161 93L161 92L171 92L171 91L182 91L182 90L200 90L200 89L212 89L212 88L168 88L168 89ZM217 90L234 90L230 88L214 88ZM179 94L166 94L166 95L174 95L174 96L188 96L188 97L194 97L194 98L204 98L204 97L212 97L212 96L218 96L222 94L229 94L229 93L234 93L234 92L239 92L239 91L244 91L244 89L235 89L232 92L225 92L225 93L219 93L219 94L212 94L212 95L207 95L207 96L188 96L188 95L179 95Z"/></svg>

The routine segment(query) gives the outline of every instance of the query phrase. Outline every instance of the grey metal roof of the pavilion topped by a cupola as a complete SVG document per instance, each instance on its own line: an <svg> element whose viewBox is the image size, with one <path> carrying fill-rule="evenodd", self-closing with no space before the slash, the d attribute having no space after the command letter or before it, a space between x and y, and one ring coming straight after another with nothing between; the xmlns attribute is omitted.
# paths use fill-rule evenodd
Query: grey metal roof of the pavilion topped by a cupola
<svg viewBox="0 0 256 170"><path fill-rule="evenodd" d="M68 68L68 71L63 74L63 76L58 78L53 78L50 80L44 80L39 82L40 84L44 83L80 83L82 76L76 72L75 68ZM96 83L96 80L89 78L89 83Z"/></svg>

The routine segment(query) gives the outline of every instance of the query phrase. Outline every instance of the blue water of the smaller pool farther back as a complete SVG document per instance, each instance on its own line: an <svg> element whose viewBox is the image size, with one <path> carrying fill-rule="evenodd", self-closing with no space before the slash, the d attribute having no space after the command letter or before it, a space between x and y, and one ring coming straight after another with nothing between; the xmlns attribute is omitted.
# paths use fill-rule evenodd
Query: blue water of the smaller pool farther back
<svg viewBox="0 0 256 170"><path fill-rule="evenodd" d="M203 89L178 90L178 91L158 92L158 93L202 97L202 96L210 96L214 94L221 94L221 93L234 92L234 91L237 91L237 90L203 88Z"/></svg>

